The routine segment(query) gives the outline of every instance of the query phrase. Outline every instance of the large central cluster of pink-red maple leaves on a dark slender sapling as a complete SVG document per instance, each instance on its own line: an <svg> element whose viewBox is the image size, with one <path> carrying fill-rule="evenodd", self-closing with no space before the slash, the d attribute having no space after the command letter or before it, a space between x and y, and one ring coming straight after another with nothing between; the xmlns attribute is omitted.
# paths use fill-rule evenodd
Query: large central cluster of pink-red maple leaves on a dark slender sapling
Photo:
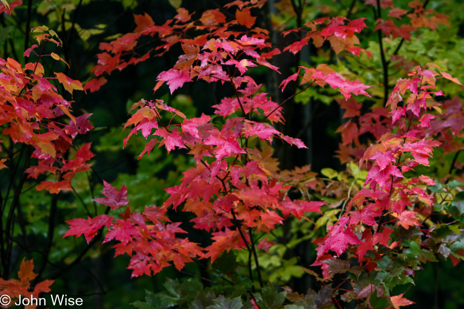
<svg viewBox="0 0 464 309"><path fill-rule="evenodd" d="M101 45L102 49L119 59L119 53L134 48L141 35L157 34L162 40L169 40L158 48L165 51L173 43L180 42L185 54L179 57L172 69L158 75L155 91L166 82L172 93L185 82L196 78L207 82L228 83L236 93L235 97L224 98L212 106L214 114L225 119L220 128L214 125L210 115L203 114L201 117L188 119L181 111L168 106L162 100L141 100L132 106L131 110L137 110L125 127L134 127L124 140L124 145L138 131L145 138L155 136L148 141L139 159L146 153L149 155L154 146L164 145L168 152L176 148L188 149L196 162L194 168L184 172L179 185L166 189L171 196L163 206L150 207L160 209L157 211L164 215L168 207L176 209L182 205L183 211L196 215L192 219L194 227L211 232L211 239L214 241L211 246L198 247L188 239L176 238L175 233L183 232L178 227L179 223L162 223L163 220L153 222L153 218L148 217L147 213L131 213L129 208L122 219L102 215L68 222L70 230L65 236L84 234L87 241L101 227L108 227L105 241L115 238L121 242L117 245L116 254L127 253L132 256L129 268L133 269L133 276L149 274L150 271L156 273L169 266L168 262L181 269L192 257L211 258L214 261L223 251L232 248L266 248L269 246L266 241L254 243L252 229L254 233L269 232L290 214L301 218L306 211L320 212L319 208L324 204L315 201L291 201L285 195L289 186L277 182L265 164L256 160L260 158L259 152L247 146L254 138L268 143L279 138L297 147L305 147L301 140L286 136L271 125L283 121L282 107L269 99L267 93L259 91L261 85L246 75L247 68L251 66L261 65L277 70L266 59L280 51L274 49L258 53L259 50L269 49L270 45L265 41L269 38L266 30L252 28L254 18L251 18L250 9L260 7L262 3L249 2L245 5L233 2L229 6L234 5L239 6L235 13L236 20L226 22L221 12L210 10L204 12L195 22L196 26L187 22L191 17L185 9L179 9L174 20L167 21L163 26L154 25L147 14L138 15L135 16L137 28L134 33ZM226 30L233 25L251 29L247 30L247 34ZM182 33L192 27L206 33L194 39L180 35L166 37L173 29ZM236 39L230 40L231 36ZM128 63L119 60L100 61L108 55L99 55L99 63L93 71L97 77L104 72L110 73L115 68L121 69ZM163 113L171 114L168 125L163 123ZM126 190L121 190L123 189ZM104 194L106 199L96 201L112 209L117 208L108 204L108 199L112 199L116 191L111 193L109 188L105 188ZM155 224L147 226L146 221ZM125 233L124 236L122 233ZM108 235L111 236L108 238ZM146 249L147 242L152 250ZM155 243L168 245L159 247ZM132 255L134 251L136 253Z"/></svg>

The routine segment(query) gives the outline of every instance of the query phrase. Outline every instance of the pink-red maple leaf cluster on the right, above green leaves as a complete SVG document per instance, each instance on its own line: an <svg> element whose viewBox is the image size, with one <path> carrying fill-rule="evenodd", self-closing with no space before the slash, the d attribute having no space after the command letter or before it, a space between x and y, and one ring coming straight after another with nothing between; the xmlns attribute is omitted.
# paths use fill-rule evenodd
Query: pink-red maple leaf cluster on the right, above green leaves
<svg viewBox="0 0 464 309"><path fill-rule="evenodd" d="M329 227L327 235L314 241L318 247L313 266L321 266L325 280L338 272L359 271L359 267L350 268L347 261L338 259L347 250L357 257L361 268L372 272L381 265L380 247L402 252L401 238L393 235L401 228L421 227L432 214L434 196L427 192L426 186L436 185L436 182L426 175L408 178L404 173L418 165L428 166L433 147L442 146L448 153L458 151L460 146L456 139L462 136L464 124L460 122L453 127L458 119L464 121L458 98L444 103L434 100L436 96L443 96L436 88L438 79L461 83L433 69L440 68L431 63L428 67L417 66L409 71L408 79L398 80L387 102L390 112L377 107L361 115L362 104L356 100L338 100L345 110L344 117L349 118L337 130L342 133L340 146L345 147L339 151L339 157L342 162L359 160L359 166L365 163L367 175L364 185L347 203L347 210L339 220ZM406 92L409 96L403 102ZM368 147L360 144L362 134L371 134L377 142ZM388 214L393 219L389 222L394 225L381 223L381 218ZM419 256L422 263L436 260L432 252L443 255L439 247L429 246L423 248ZM448 253L445 255L447 257ZM460 255L453 255L452 259L457 263ZM410 272L415 267L404 265L402 269ZM400 277L398 280L401 281Z"/></svg>

